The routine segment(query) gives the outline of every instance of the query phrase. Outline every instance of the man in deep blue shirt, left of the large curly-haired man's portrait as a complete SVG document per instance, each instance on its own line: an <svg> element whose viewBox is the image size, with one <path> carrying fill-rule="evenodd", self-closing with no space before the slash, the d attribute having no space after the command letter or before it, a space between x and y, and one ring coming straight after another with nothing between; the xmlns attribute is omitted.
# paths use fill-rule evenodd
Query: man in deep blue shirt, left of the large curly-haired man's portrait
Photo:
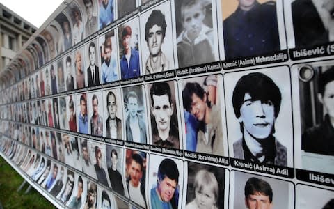
<svg viewBox="0 0 334 209"><path fill-rule="evenodd" d="M141 64L139 62L138 48L132 47L132 26L124 25L119 28L121 32L122 58L120 59L120 70L122 79L129 79L141 75ZM136 34L134 34L136 36Z"/></svg>

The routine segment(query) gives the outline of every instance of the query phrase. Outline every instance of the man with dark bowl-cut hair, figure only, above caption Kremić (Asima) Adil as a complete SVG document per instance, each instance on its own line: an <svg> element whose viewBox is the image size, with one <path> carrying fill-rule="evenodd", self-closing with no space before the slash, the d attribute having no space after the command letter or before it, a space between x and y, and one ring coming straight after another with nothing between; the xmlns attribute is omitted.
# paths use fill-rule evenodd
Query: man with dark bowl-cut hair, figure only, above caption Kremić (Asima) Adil
<svg viewBox="0 0 334 209"><path fill-rule="evenodd" d="M234 158L287 166L287 148L273 135L281 101L280 88L267 75L251 72L238 80L232 104L242 138L233 144Z"/></svg>

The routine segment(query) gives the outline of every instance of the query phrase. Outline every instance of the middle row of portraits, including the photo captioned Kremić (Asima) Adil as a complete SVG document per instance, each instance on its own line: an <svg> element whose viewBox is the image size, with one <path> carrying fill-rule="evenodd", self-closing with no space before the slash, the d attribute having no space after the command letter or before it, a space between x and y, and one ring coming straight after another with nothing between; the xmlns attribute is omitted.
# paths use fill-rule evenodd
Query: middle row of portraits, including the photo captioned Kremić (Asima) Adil
<svg viewBox="0 0 334 209"><path fill-rule="evenodd" d="M83 91L3 105L1 118L175 156L185 150L191 159L204 153L223 157L221 164L233 157L333 175L333 69L331 62L305 63L292 70L280 66ZM15 139L19 128L5 124L3 132Z"/></svg>

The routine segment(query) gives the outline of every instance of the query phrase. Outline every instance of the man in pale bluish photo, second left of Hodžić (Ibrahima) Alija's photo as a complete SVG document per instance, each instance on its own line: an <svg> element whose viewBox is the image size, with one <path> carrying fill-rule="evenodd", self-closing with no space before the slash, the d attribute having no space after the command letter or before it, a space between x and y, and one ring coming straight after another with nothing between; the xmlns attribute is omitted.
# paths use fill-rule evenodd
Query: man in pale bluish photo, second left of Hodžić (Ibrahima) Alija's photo
<svg viewBox="0 0 334 209"><path fill-rule="evenodd" d="M139 87L142 92L141 86ZM141 113L139 112L139 98L136 91L128 91L125 93L125 104L127 104L128 111L127 119L125 121L127 141L145 144L147 139L145 110Z"/></svg>

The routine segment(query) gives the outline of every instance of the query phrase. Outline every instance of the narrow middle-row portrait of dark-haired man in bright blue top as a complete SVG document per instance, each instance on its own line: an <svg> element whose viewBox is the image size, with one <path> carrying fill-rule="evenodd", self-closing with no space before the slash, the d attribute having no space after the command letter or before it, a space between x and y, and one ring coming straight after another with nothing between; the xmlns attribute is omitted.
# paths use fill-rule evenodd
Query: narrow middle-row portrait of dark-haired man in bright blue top
<svg viewBox="0 0 334 209"><path fill-rule="evenodd" d="M79 133L81 134L88 134L88 113L87 113L87 95L86 93L78 94L77 104L79 103L79 113L78 113L78 126L79 126Z"/></svg>

